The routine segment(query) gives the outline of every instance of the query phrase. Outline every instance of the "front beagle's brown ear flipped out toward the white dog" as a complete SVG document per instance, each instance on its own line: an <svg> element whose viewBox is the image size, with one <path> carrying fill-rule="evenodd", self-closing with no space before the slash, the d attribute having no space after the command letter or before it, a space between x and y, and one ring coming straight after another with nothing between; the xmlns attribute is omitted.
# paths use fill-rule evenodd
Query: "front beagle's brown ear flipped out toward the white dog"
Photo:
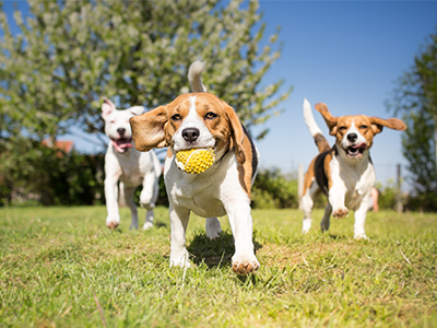
<svg viewBox="0 0 437 328"><path fill-rule="evenodd" d="M167 147L165 125L167 124L167 107L160 106L142 115L129 119L135 149L146 152L154 148Z"/></svg>

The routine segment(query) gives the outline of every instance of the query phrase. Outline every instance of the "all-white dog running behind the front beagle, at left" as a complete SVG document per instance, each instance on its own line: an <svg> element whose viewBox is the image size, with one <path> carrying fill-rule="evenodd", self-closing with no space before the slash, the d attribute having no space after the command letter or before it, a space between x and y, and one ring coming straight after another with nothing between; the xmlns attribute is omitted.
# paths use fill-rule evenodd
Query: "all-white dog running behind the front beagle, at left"
<svg viewBox="0 0 437 328"><path fill-rule="evenodd" d="M151 152L140 153L133 148L129 118L144 113L144 107L134 106L117 110L109 99L104 99L102 117L105 119L105 133L110 143L105 155L105 197L108 216L106 226L115 229L120 223L118 210L118 189L120 199L130 208L132 222L130 229L138 229L137 204L133 201L135 188L143 185L140 204L146 209L143 229L153 226L153 208L158 195L158 178L162 172L160 160ZM117 183L120 181L119 188Z"/></svg>

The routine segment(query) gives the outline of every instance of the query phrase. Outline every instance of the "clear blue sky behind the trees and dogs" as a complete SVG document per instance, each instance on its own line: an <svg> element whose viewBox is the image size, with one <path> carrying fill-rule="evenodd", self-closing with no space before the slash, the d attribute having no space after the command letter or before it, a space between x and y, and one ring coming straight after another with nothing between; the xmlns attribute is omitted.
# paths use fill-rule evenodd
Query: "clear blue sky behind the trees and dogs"
<svg viewBox="0 0 437 328"><path fill-rule="evenodd" d="M4 1L11 14L13 1ZM17 1L25 8L24 1ZM365 114L387 118L385 102L397 86L395 80L413 63L426 36L436 32L436 0L260 0L265 35L281 25L282 57L267 73L263 83L285 79L293 85L285 112L261 128L271 132L257 143L262 167L284 172L307 166L317 148L302 116L304 98L315 105L323 102L334 116ZM324 121L315 117L328 136ZM79 131L75 131L76 133ZM98 147L74 136L75 148L97 151ZM333 142L333 137L329 137ZM385 129L371 149L377 180L394 178L395 165L403 165L401 132Z"/></svg>

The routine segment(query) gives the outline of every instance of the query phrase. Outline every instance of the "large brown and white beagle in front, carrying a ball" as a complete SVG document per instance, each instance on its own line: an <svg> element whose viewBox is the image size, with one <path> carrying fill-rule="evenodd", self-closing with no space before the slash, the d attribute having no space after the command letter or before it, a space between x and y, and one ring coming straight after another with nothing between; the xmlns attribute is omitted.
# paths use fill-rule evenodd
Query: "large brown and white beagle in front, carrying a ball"
<svg viewBox="0 0 437 328"><path fill-rule="evenodd" d="M145 152L168 147L164 179L172 225L170 266L189 267L185 247L190 212L206 218L206 235L222 232L216 216L227 214L235 239L233 271L247 274L259 268L252 243L250 189L258 166L258 152L235 110L206 93L200 74L203 66L190 67L196 93L130 119L135 148ZM201 174L188 174L175 164L178 151L213 148L215 163Z"/></svg>

